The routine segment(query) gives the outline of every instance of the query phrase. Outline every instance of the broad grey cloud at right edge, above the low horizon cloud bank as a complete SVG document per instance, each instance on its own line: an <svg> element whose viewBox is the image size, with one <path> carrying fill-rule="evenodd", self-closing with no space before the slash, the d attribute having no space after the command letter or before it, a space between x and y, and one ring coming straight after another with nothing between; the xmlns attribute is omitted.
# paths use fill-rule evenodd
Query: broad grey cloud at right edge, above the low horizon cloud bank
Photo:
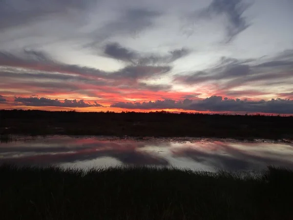
<svg viewBox="0 0 293 220"><path fill-rule="evenodd" d="M255 64L256 62L259 64ZM281 60L278 57L273 57L270 60L260 62L253 59L240 61L223 57L214 67L187 75L175 75L174 81L188 85L217 81L222 89L229 89L260 81L265 81L265 84L277 84L276 80L287 79L287 82L290 82L292 77L293 60L290 59ZM221 82L220 80L225 81Z"/></svg>

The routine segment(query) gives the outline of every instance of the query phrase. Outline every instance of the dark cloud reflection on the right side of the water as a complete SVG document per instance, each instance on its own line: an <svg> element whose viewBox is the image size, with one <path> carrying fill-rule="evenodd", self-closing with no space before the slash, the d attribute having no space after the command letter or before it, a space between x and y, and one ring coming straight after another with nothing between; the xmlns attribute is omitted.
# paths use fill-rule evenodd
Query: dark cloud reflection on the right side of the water
<svg viewBox="0 0 293 220"><path fill-rule="evenodd" d="M283 159L282 154L278 157L254 155L225 143L217 143L216 152L205 152L200 148L185 148L174 151L173 156L191 158L196 162L225 170L249 170L259 166L265 168L267 165L293 167L293 162Z"/></svg>

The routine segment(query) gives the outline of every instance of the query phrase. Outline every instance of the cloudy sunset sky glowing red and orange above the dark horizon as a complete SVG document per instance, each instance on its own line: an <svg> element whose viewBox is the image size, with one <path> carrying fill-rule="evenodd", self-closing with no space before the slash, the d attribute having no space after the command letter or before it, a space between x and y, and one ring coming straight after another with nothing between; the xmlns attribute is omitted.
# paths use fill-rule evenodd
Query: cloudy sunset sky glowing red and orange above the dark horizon
<svg viewBox="0 0 293 220"><path fill-rule="evenodd" d="M1 0L0 109L293 114L292 0Z"/></svg>

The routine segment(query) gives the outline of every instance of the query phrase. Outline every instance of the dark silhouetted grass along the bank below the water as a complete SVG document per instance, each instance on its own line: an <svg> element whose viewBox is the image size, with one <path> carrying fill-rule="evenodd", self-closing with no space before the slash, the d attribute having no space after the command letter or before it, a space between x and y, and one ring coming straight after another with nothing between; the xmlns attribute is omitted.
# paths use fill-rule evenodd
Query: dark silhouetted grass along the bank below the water
<svg viewBox="0 0 293 220"><path fill-rule="evenodd" d="M293 171L0 166L1 220L292 220Z"/></svg>

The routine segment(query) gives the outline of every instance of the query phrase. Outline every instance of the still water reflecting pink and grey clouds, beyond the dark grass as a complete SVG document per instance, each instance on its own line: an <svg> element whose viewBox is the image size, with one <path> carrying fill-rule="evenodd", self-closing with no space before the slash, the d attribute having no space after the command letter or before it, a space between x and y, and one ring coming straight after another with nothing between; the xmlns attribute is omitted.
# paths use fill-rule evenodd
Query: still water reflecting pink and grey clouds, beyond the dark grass
<svg viewBox="0 0 293 220"><path fill-rule="evenodd" d="M147 165L259 171L275 165L293 169L293 144L196 138L19 137L0 144L0 163L5 162L80 168Z"/></svg>

